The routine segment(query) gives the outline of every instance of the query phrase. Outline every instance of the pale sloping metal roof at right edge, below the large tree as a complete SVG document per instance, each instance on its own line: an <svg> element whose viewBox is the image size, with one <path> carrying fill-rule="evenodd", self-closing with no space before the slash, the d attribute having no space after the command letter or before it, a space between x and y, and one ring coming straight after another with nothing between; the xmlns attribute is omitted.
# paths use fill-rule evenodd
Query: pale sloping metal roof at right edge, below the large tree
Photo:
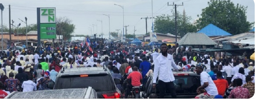
<svg viewBox="0 0 256 99"><path fill-rule="evenodd" d="M248 37L255 37L254 33L242 33L242 34L237 34L237 35L233 35L231 37L225 37L225 38L221 38L221 39L217 39L214 40L215 42L221 42L221 41L225 41L225 40L234 40L234 39L240 39L240 38L248 38Z"/></svg>

